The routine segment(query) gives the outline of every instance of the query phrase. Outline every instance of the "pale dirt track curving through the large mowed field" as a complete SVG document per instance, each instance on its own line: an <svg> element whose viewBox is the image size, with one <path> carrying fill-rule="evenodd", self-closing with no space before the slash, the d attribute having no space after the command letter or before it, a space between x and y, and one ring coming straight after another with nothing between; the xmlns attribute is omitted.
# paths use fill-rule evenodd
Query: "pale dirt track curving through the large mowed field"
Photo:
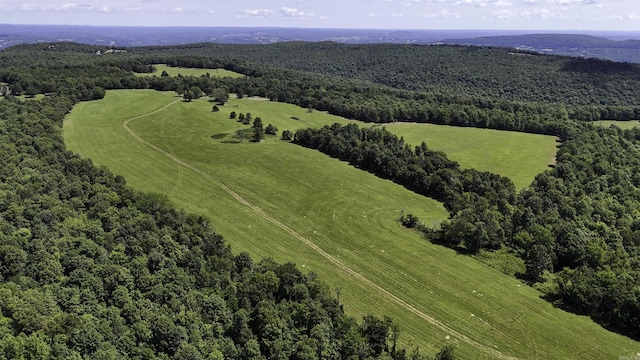
<svg viewBox="0 0 640 360"><path fill-rule="evenodd" d="M334 264L335 266L337 266L338 268L343 270L345 273L347 273L350 276L358 279L361 283L369 286L373 290L379 292L384 297L386 297L388 300L391 300L394 303L404 307L405 309L409 310L414 315L416 315L416 316L420 317L421 319L427 321L428 323L430 323L431 325L435 326L436 328L438 328L438 329L440 329L442 331L450 333L451 335L459 338L460 340L468 343L469 345L472 345L472 346L484 351L485 353L493 356L494 358L513 359L513 360L517 359L516 357L505 355L502 352L500 352L500 351L498 351L498 350L496 350L496 349L494 349L494 348L492 348L490 346L481 344L481 343L469 338L468 336L466 336L466 335L464 335L464 334L462 334L462 333L450 328L449 326L445 325L441 321L439 321L439 320L437 320L437 319L435 319L435 318L423 313L422 311L418 310L417 308L415 308L413 305L409 304L405 300L402 300L400 297L392 294L388 290L382 288L380 285L378 285L378 284L374 283L373 281L367 279L366 277L364 277L364 275L362 275L359 272L351 269L349 266L347 266L346 264L344 264L340 260L338 260L335 257L333 257L333 255L331 255L328 252L322 250L322 248L320 248L318 245L316 245L313 241L311 241L311 240L305 238L304 236L300 235L295 230L291 229L290 227L288 227L287 225L283 224L282 222L280 222L276 218L274 218L271 215L267 214L261 208L251 204L249 201L245 200L238 193L236 193L235 191L231 190L228 186L226 186L225 184L223 184L220 181L216 180L211 175L209 175L209 174L205 173L204 171L196 168L195 166L185 162L184 160L181 160L180 158L178 158L175 155L175 153L173 151L166 151L164 149L159 148L158 146L156 146L156 145L154 145L154 144L142 139L138 134L136 134L133 130L131 130L129 128L129 123L131 121L137 120L137 119L141 119L141 118L146 117L146 116L157 114L157 113L159 113L161 111L164 111L165 109L167 109L171 105L176 104L179 101L180 100L175 100L175 101L173 101L173 102L171 102L171 103L169 103L169 104L167 104L167 105L165 105L165 106L163 106L163 107L161 107L159 109L156 109L156 110L154 110L152 112L149 112L149 113L146 113L146 114L142 114L142 115L138 115L138 116L132 117L132 118L130 118L128 120L125 120L122 123L122 127L127 131L127 133L129 133L129 135L131 135L133 138L135 138L138 142L140 142L140 143L150 147L151 149L153 149L153 150L155 150L155 151L167 156L168 158L170 158L173 161L175 161L176 164L178 164L180 166L184 166L187 169L190 169L193 172L195 172L196 174L198 174L198 175L204 177L205 179L211 181L212 183L214 183L215 185L217 185L218 187L223 189L225 192L227 192L229 195L231 195L239 203L247 206L248 208L253 210L255 213L260 215L262 218L264 218L265 220L271 222L272 224L278 226L279 228L281 228L285 232L289 233L290 235L292 235L296 239L300 240L302 243L304 243L305 245L309 246L311 249L316 251L319 255L321 255L325 259L329 260L332 264Z"/></svg>

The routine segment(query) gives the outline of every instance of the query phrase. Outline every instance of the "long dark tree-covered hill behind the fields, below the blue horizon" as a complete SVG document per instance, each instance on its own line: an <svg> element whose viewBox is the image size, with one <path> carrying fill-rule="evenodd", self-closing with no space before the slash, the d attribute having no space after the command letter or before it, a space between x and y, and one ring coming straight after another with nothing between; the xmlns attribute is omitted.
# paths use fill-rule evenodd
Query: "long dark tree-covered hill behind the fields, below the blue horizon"
<svg viewBox="0 0 640 360"><path fill-rule="evenodd" d="M136 54L224 57L397 89L568 105L638 105L640 65L505 48L287 42L136 48ZM158 59L160 60L160 59Z"/></svg>

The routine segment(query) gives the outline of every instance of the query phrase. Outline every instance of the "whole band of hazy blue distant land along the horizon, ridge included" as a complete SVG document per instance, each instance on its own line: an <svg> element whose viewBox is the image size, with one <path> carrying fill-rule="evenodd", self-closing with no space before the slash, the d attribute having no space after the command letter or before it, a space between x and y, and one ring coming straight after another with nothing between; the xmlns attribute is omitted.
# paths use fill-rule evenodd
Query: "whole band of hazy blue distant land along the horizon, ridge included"
<svg viewBox="0 0 640 360"><path fill-rule="evenodd" d="M540 53L640 63L640 32L532 34L524 30L312 29L274 27L119 27L0 24L0 50L38 42L73 41L113 47L271 44L334 41L345 44L460 44L513 47Z"/></svg>

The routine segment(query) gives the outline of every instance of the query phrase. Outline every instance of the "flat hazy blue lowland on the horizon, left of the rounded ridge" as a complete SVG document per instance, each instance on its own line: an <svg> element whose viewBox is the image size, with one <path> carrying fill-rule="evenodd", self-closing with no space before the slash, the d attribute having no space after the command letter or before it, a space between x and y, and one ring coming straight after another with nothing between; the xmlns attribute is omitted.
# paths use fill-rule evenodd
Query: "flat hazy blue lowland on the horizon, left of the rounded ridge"
<svg viewBox="0 0 640 360"><path fill-rule="evenodd" d="M155 46L215 42L269 44L335 41L351 44L430 44L446 38L504 35L476 30L310 29L274 27L119 27L0 24L0 49L22 43L74 41L91 45ZM640 34L638 34L640 38Z"/></svg>

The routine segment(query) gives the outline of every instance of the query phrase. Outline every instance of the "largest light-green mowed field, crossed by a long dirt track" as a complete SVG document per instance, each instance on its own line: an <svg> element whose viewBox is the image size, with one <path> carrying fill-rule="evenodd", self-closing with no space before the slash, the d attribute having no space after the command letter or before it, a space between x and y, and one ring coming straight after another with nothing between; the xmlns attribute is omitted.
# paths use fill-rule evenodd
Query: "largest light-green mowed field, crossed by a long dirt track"
<svg viewBox="0 0 640 360"><path fill-rule="evenodd" d="M441 204L275 136L240 142L237 130L249 127L228 117L250 112L280 131L347 120L255 99L231 99L217 113L211 107L175 93L109 91L75 107L65 141L135 188L207 216L236 252L318 273L339 289L348 313L392 316L401 342L429 356L447 344L465 359L640 351L637 342L555 309L520 281L396 222L403 209L440 221L447 217Z"/></svg>

